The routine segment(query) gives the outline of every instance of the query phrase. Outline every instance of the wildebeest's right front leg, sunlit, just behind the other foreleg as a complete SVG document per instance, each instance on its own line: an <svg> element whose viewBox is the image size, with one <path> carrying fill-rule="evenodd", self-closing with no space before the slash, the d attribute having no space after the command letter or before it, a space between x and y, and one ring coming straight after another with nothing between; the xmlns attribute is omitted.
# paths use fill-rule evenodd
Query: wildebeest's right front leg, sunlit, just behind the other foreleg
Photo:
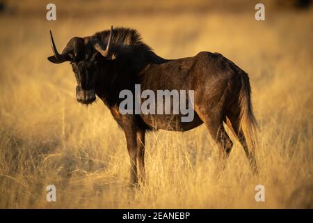
<svg viewBox="0 0 313 223"><path fill-rule="evenodd" d="M145 130L137 131L137 158L139 178L142 185L145 185Z"/></svg>

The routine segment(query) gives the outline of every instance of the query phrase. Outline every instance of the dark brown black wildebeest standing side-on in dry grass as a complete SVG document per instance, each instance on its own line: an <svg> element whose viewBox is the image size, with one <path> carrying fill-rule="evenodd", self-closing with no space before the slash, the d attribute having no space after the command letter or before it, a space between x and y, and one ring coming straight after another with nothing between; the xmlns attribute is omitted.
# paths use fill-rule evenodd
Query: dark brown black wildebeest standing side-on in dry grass
<svg viewBox="0 0 313 223"><path fill-rule="evenodd" d="M77 101L89 104L98 95L125 132L131 161L131 183L138 183L137 159L142 182L145 179L145 132L147 130L186 131L204 123L218 144L220 168L232 149L225 132L227 123L241 142L252 171L255 161L255 128L249 77L232 61L218 53L200 52L183 59L163 59L145 45L134 29L117 28L84 38L74 37L61 54L50 31L52 63L70 61L77 79ZM181 114L121 114L120 91L178 89L194 91L194 118L182 122Z"/></svg>

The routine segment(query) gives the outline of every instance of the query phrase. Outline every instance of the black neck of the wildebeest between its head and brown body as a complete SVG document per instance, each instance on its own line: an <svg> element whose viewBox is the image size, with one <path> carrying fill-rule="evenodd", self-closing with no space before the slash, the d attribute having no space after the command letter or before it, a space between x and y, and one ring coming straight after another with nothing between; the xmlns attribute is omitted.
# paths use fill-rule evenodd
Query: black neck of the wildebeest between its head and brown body
<svg viewBox="0 0 313 223"><path fill-rule="evenodd" d="M119 93L124 89L132 91L140 83L141 71L150 63L166 60L157 56L146 45L113 45L112 51L118 55L114 61L100 63L95 91L106 105L119 102Z"/></svg>

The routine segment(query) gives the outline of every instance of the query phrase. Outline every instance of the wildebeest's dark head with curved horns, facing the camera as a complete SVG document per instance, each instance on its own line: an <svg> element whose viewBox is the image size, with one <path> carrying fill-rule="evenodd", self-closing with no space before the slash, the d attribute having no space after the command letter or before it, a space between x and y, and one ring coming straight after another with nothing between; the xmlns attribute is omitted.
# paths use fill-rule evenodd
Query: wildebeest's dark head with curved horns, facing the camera
<svg viewBox="0 0 313 223"><path fill-rule="evenodd" d="M112 29L111 26L106 49L102 49L101 43L94 37L73 37L61 54L56 49L50 31L51 47L54 55L49 56L48 60L52 63L70 61L77 80L76 96L78 102L89 104L95 101L95 83L101 70L99 65L103 59L113 60L116 58L115 54L110 51Z"/></svg>

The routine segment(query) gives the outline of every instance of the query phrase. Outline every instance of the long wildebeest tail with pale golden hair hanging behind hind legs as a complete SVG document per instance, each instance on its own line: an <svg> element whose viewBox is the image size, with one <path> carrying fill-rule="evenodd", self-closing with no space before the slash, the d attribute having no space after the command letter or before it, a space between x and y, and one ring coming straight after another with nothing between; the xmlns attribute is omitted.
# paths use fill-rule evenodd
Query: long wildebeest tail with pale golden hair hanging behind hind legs
<svg viewBox="0 0 313 223"><path fill-rule="evenodd" d="M241 72L241 90L239 92L240 125L249 150L255 150L257 143L257 120L253 114L251 103L251 88L246 72Z"/></svg>

